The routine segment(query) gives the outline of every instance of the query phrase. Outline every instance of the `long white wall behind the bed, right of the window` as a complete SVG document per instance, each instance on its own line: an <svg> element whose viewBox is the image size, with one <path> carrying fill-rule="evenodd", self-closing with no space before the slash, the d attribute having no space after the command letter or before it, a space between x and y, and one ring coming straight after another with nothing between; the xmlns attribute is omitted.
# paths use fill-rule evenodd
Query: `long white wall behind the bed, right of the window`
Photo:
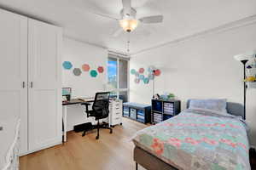
<svg viewBox="0 0 256 170"><path fill-rule="evenodd" d="M256 48L256 25L242 26L195 37L154 48L131 57L131 69L160 65L162 74L156 77L155 93L172 92L182 100L226 98L242 103L242 65L233 59ZM132 102L150 103L152 82L148 85L134 83L130 77ZM256 89L247 92L247 121L252 127L251 140L256 145Z"/></svg>

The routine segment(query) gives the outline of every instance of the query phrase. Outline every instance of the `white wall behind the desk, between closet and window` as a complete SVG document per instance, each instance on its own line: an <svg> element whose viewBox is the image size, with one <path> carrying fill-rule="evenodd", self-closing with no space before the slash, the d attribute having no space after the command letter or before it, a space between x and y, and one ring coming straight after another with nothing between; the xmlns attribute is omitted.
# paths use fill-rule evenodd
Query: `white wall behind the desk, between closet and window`
<svg viewBox="0 0 256 170"><path fill-rule="evenodd" d="M73 75L73 69L62 68L62 87L72 88L73 98L94 97L96 92L104 90L107 82L108 50L98 48L84 42L64 38L62 61L71 61L73 68L80 68L89 64L90 69L104 67L104 72L97 77L90 77L90 72L82 71L79 77ZM73 125L87 122L84 117L84 108L81 105L69 105L67 107L67 129L72 130Z"/></svg>

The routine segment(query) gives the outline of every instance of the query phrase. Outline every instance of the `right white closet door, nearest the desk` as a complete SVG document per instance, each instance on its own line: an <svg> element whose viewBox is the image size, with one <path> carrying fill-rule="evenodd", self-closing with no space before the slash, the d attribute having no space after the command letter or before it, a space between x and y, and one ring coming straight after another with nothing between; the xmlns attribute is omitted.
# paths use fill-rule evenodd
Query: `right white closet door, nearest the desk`
<svg viewBox="0 0 256 170"><path fill-rule="evenodd" d="M61 29L28 20L29 150L61 143Z"/></svg>

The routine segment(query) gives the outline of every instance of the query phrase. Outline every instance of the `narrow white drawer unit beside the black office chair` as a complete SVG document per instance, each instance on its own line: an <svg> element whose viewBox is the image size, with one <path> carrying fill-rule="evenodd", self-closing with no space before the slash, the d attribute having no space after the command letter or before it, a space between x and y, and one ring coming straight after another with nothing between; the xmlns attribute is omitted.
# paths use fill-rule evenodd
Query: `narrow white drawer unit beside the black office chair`
<svg viewBox="0 0 256 170"><path fill-rule="evenodd" d="M110 100L109 104L109 126L122 125L123 101L121 99Z"/></svg>

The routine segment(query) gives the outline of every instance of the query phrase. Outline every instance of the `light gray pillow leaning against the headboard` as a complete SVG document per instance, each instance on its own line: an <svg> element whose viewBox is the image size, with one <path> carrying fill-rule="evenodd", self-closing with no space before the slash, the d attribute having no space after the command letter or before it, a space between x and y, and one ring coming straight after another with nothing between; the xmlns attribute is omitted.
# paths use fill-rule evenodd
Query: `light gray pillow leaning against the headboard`
<svg viewBox="0 0 256 170"><path fill-rule="evenodd" d="M227 99L190 99L189 109L207 109L227 112Z"/></svg>

